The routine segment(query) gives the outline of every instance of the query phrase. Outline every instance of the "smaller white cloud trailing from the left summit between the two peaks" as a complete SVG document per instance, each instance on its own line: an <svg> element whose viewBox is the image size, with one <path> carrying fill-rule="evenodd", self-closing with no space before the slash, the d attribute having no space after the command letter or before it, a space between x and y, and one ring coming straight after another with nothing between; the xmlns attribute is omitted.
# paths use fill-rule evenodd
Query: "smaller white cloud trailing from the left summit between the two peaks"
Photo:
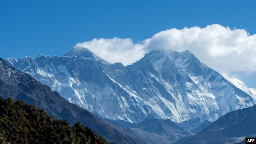
<svg viewBox="0 0 256 144"><path fill-rule="evenodd" d="M123 65L132 64L145 55L143 45L134 44L132 39L117 37L93 39L92 41L78 43L75 47L88 48L109 63L121 62Z"/></svg>

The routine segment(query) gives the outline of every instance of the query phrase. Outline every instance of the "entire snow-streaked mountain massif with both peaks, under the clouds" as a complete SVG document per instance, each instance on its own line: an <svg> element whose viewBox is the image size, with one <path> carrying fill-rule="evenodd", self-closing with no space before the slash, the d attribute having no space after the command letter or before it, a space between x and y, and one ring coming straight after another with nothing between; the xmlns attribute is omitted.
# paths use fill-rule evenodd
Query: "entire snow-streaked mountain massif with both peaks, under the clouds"
<svg viewBox="0 0 256 144"><path fill-rule="evenodd" d="M41 54L6 62L69 102L113 120L213 122L256 101L253 90L243 91L189 51L155 50L128 66L110 64L86 48L62 57Z"/></svg>

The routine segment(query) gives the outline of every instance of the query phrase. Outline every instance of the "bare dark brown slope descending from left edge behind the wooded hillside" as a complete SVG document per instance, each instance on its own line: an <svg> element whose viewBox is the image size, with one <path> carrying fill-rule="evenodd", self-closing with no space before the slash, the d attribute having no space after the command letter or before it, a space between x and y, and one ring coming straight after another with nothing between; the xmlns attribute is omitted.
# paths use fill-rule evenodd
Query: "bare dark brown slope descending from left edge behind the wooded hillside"
<svg viewBox="0 0 256 144"><path fill-rule="evenodd" d="M43 63L42 63L43 64ZM118 127L104 122L87 110L62 98L57 92L35 80L28 74L9 66L0 58L0 95L14 100L24 100L45 111L54 118L67 119L70 124L80 121L105 137L109 142L145 143Z"/></svg>

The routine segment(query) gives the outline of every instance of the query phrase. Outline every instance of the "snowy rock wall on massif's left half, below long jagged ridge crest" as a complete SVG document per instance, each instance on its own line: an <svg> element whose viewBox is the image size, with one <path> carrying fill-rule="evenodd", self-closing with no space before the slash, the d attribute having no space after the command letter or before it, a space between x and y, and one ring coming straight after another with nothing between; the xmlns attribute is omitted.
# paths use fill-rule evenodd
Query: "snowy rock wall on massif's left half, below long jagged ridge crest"
<svg viewBox="0 0 256 144"><path fill-rule="evenodd" d="M109 78L95 59L39 55L35 59L14 59L11 63L69 102L101 116L132 121L134 110L139 109L135 98Z"/></svg>

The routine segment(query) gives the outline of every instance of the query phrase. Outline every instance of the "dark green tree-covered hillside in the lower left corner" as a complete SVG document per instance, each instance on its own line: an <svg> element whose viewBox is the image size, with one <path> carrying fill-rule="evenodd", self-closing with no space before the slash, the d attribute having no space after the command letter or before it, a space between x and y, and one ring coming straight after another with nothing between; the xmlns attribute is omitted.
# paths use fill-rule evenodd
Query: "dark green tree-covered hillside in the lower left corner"
<svg viewBox="0 0 256 144"><path fill-rule="evenodd" d="M24 101L0 97L0 143L90 143L108 142L80 122L70 127L67 120L56 120L43 109Z"/></svg>

